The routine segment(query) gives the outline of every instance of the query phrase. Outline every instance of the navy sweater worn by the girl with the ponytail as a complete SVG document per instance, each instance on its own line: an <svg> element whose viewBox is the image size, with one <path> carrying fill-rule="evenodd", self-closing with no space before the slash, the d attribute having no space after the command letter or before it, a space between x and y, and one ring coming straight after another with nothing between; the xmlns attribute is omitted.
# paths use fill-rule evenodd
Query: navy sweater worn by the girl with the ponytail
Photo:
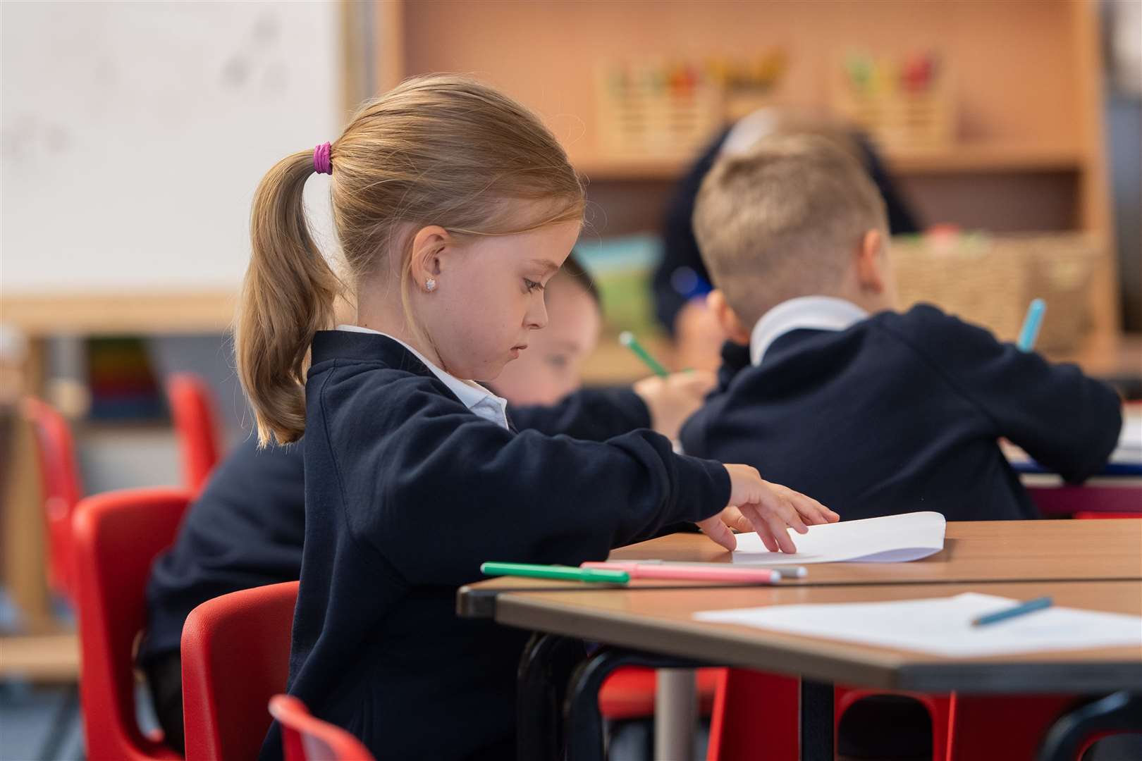
<svg viewBox="0 0 1142 761"><path fill-rule="evenodd" d="M383 335L319 332L312 359L289 693L378 758L506 758L526 634L458 618L457 588L485 560L578 565L708 518L729 476L646 430L506 430Z"/></svg>

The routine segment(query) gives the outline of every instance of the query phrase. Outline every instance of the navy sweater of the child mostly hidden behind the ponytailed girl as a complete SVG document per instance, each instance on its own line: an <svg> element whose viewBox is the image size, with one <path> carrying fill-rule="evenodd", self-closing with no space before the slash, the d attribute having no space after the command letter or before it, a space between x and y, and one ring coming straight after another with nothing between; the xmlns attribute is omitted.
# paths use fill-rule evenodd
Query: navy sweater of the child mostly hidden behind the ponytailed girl
<svg viewBox="0 0 1142 761"><path fill-rule="evenodd" d="M582 389L554 406L509 407L521 429L602 442L650 428L650 413L627 388ZM305 465L300 444L258 448L249 437L211 473L178 539L147 582L147 626L138 662L178 653L183 624L220 594L297 581L305 537Z"/></svg>

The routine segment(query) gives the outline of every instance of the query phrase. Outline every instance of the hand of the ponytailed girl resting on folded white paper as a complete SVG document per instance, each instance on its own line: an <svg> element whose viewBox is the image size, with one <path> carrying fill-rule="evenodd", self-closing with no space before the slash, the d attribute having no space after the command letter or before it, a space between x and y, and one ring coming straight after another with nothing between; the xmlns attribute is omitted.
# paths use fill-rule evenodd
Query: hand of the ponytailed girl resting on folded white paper
<svg viewBox="0 0 1142 761"><path fill-rule="evenodd" d="M798 534L817 524L833 524L841 516L817 500L779 484L763 480L756 468L725 465L730 473L730 505L698 527L727 550L738 547L733 531L756 531L771 552L796 552L788 528Z"/></svg>

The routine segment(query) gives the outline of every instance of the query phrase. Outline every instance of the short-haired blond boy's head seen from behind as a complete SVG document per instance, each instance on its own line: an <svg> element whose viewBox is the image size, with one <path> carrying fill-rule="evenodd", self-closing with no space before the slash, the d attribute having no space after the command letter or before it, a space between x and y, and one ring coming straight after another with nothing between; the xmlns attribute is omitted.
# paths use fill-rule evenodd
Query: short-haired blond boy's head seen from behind
<svg viewBox="0 0 1142 761"><path fill-rule="evenodd" d="M717 291L710 306L730 338L801 296L892 307L884 201L861 164L820 136L764 139L724 155L706 176L694 235Z"/></svg>

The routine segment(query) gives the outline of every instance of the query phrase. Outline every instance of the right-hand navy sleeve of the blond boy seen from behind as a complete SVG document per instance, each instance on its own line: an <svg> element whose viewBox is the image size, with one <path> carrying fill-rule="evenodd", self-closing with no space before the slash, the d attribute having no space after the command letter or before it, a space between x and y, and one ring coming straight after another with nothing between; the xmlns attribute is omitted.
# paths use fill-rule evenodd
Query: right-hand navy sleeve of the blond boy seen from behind
<svg viewBox="0 0 1142 761"><path fill-rule="evenodd" d="M1113 452L1121 402L1076 365L1052 364L926 305L887 313L878 323L974 404L996 437L1007 437L1067 481L1085 480Z"/></svg>

